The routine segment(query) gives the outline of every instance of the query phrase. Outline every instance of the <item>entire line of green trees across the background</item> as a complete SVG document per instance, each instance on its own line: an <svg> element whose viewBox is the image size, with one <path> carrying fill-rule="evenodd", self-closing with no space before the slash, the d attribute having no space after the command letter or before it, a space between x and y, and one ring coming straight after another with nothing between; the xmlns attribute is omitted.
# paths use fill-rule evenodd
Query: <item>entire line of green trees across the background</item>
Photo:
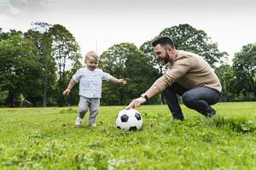
<svg viewBox="0 0 256 170"><path fill-rule="evenodd" d="M256 43L245 44L227 63L228 54L202 30L188 24L172 26L159 35L174 39L177 49L200 54L216 71L222 85L222 101L256 99ZM151 42L141 47L131 42L114 44L100 56L99 67L114 77L125 78L125 86L103 82L102 105L126 105L145 92L168 69L154 59ZM68 97L63 89L83 65L78 42L61 25L32 24L26 32L0 28L0 105L19 106L27 99L34 106L77 105L79 86ZM160 104L161 95L148 104Z"/></svg>

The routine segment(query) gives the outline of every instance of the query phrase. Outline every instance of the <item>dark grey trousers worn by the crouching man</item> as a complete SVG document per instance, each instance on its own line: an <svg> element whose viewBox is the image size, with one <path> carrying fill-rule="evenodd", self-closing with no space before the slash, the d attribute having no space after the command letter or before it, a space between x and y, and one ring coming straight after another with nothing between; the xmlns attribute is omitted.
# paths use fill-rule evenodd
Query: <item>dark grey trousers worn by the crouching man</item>
<svg viewBox="0 0 256 170"><path fill-rule="evenodd" d="M173 118L177 119L183 119L183 112L178 103L177 94L182 96L184 105L200 113L211 109L210 105L216 104L220 98L220 93L212 88L186 89L177 82L174 82L163 91L163 95L166 98L166 103L172 112Z"/></svg>

